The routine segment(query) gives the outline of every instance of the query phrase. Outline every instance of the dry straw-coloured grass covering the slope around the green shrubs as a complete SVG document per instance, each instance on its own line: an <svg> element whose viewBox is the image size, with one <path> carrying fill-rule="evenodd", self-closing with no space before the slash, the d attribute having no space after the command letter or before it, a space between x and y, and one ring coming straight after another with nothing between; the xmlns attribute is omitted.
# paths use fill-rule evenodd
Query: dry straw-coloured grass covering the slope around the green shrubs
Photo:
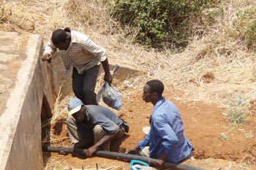
<svg viewBox="0 0 256 170"><path fill-rule="evenodd" d="M203 101L228 107L230 99L243 98L246 103L256 100L256 54L247 50L241 35L233 28L236 12L255 7L256 1L222 1L223 12L214 18L216 23L208 27L192 23L195 36L179 53L132 45L122 35L118 23L109 17L108 6L103 2L1 1L0 29L40 34L45 41L54 29L66 26L88 34L94 42L106 48L108 57L116 63L129 64L140 71L140 74L129 78L133 88L125 88L123 83L116 82L123 96L138 93L138 88L141 89L147 80L159 79L165 82L169 91L183 92L182 96L176 96L176 93L173 96L184 102ZM203 35L197 36L198 31ZM214 78L207 82L204 78L208 73ZM99 77L99 82L102 82L102 77ZM48 123L56 123L59 117L67 114L69 97L56 101L53 118ZM45 142L54 140L53 135L48 134Z"/></svg>

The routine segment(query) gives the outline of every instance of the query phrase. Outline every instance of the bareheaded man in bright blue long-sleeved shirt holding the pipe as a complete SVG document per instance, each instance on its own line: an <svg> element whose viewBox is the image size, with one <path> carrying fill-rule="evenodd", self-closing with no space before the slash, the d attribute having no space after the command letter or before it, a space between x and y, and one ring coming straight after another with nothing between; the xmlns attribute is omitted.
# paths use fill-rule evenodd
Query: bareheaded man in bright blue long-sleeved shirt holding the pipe
<svg viewBox="0 0 256 170"><path fill-rule="evenodd" d="M165 161L184 161L193 150L192 144L183 134L184 128L178 109L171 101L165 100L163 91L164 85L161 81L146 82L143 100L154 105L149 120L151 129L142 141L127 152L157 159L158 168L163 168Z"/></svg>

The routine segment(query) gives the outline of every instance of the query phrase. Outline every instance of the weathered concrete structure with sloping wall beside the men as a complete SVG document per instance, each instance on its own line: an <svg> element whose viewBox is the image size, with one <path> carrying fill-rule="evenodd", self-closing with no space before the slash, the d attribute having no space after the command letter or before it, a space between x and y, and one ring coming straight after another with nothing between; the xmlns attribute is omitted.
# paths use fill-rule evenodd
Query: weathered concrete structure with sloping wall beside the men
<svg viewBox="0 0 256 170"><path fill-rule="evenodd" d="M43 169L41 123L52 116L60 86L62 96L72 91L71 74L63 79L59 56L52 63L39 59L39 35L0 31L0 44L0 169ZM121 65L115 77L135 72Z"/></svg>

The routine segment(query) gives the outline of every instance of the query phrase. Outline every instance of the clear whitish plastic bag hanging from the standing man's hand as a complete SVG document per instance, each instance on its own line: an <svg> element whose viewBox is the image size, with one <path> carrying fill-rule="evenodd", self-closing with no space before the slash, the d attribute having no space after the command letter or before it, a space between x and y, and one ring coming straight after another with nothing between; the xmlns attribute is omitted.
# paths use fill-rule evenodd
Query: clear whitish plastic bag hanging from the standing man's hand
<svg viewBox="0 0 256 170"><path fill-rule="evenodd" d="M121 108L121 93L119 93L113 85L110 86L108 82L105 82L97 93L96 99L98 103L101 97L102 101L109 107L117 110Z"/></svg>

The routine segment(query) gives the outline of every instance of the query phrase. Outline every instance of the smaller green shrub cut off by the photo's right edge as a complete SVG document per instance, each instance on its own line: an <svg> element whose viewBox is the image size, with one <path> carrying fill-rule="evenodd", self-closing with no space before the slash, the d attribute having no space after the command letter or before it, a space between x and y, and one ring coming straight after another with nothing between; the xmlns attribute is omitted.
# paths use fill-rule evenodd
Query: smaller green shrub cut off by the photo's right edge
<svg viewBox="0 0 256 170"><path fill-rule="evenodd" d="M237 12L238 18L234 20L233 26L240 33L248 48L256 42L256 8L247 8Z"/></svg>

